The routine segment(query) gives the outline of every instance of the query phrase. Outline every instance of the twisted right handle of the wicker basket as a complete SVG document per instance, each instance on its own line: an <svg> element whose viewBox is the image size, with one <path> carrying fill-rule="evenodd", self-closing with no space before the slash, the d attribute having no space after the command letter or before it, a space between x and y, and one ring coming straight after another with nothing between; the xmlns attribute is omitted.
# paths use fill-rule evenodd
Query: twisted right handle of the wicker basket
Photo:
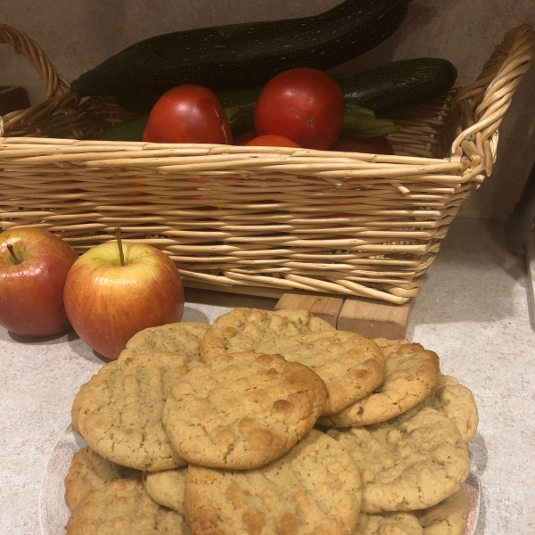
<svg viewBox="0 0 535 535"><path fill-rule="evenodd" d="M498 126L511 105L511 99L523 75L530 69L535 53L535 31L523 24L506 33L485 63L480 76L461 89L453 107L460 111L465 129L457 131L451 153L470 159L469 172L490 176L496 161ZM460 130L460 128L459 128Z"/></svg>

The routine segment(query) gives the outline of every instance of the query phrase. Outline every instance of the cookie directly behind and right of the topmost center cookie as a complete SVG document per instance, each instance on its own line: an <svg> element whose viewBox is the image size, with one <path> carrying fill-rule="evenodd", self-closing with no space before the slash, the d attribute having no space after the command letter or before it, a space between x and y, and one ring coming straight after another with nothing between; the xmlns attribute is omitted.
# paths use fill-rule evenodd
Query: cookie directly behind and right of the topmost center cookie
<svg viewBox="0 0 535 535"><path fill-rule="evenodd" d="M355 333L325 330L284 336L261 342L258 350L279 353L286 360L313 369L329 392L323 415L340 412L383 382L383 352L374 342Z"/></svg>

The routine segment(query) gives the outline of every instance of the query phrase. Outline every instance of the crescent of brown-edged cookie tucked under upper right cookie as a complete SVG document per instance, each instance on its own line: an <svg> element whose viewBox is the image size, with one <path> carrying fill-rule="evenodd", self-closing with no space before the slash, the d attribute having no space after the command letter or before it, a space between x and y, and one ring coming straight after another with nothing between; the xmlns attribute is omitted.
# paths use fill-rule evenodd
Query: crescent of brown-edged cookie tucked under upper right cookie
<svg viewBox="0 0 535 535"><path fill-rule="evenodd" d="M388 345L383 384L338 414L324 416L318 424L329 427L356 427L385 422L415 407L439 381L439 358L418 343Z"/></svg>

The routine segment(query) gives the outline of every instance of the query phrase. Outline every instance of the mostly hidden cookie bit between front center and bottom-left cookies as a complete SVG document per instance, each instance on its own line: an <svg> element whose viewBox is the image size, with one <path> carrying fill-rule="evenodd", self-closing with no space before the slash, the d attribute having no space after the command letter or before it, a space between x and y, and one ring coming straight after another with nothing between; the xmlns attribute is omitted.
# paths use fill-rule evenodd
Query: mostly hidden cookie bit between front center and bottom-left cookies
<svg viewBox="0 0 535 535"><path fill-rule="evenodd" d="M143 482L148 495L157 504L184 514L186 474L187 466L163 472L145 472Z"/></svg>

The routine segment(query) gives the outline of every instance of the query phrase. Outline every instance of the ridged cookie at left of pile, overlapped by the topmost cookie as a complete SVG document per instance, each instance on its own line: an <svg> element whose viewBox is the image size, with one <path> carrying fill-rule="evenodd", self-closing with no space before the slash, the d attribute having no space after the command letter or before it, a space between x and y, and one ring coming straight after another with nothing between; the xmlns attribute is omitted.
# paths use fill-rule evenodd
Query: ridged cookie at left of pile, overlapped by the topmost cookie
<svg viewBox="0 0 535 535"><path fill-rule="evenodd" d="M119 465L149 472L185 465L161 414L189 362L184 355L153 352L104 365L73 402L75 429L91 449Z"/></svg>

